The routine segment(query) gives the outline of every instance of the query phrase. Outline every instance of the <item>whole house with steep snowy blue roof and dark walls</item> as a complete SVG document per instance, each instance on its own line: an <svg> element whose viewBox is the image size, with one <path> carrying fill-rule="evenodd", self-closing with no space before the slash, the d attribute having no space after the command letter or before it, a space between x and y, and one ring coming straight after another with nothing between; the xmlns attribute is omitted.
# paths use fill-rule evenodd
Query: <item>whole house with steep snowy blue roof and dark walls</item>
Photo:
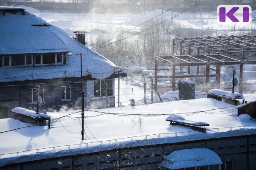
<svg viewBox="0 0 256 170"><path fill-rule="evenodd" d="M86 108L115 106L114 78L126 73L113 62L23 8L0 7L0 22L0 118L37 99L41 110L81 108L81 84Z"/></svg>

